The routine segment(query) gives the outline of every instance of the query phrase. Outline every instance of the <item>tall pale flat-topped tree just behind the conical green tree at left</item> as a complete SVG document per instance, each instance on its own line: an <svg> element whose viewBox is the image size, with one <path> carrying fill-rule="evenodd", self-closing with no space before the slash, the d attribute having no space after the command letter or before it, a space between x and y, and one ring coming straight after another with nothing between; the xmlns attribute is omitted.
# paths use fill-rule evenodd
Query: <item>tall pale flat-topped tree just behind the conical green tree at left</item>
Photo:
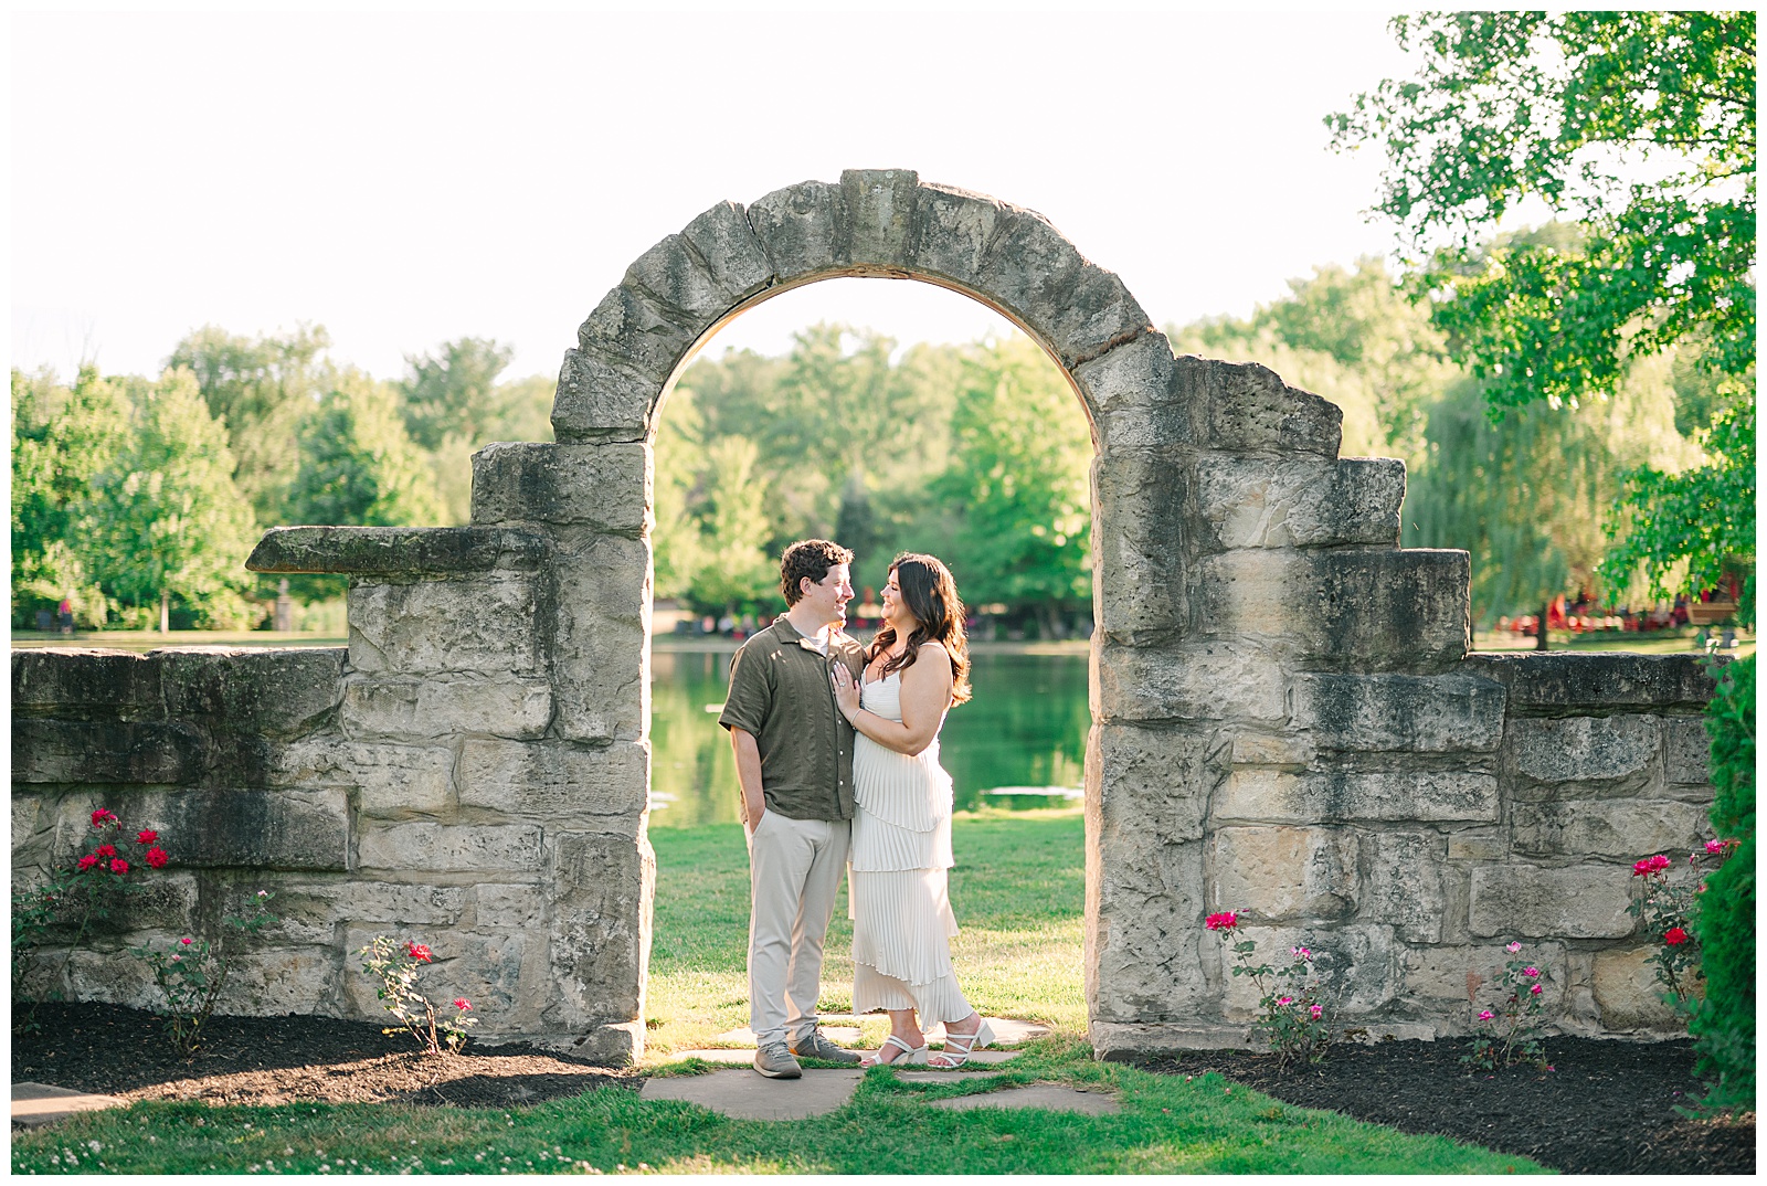
<svg viewBox="0 0 1767 1186"><path fill-rule="evenodd" d="M203 325L166 359L168 369L184 368L196 376L209 414L226 428L228 451L237 463L233 479L260 523L284 521L286 490L299 467L288 442L325 387L320 355L329 346L330 336L322 325L263 338Z"/></svg>

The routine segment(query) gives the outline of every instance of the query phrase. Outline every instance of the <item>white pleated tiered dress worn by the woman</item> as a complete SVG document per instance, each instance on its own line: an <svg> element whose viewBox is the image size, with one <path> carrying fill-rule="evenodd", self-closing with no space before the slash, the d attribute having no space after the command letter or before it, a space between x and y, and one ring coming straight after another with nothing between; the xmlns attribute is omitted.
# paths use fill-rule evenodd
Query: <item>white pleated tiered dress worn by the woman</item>
<svg viewBox="0 0 1767 1186"><path fill-rule="evenodd" d="M864 684L859 703L901 719L901 672ZM938 739L915 756L864 734L853 741L853 1011L917 1009L921 1023L961 1022L970 1006L951 970L958 919L945 891L951 857L951 774Z"/></svg>

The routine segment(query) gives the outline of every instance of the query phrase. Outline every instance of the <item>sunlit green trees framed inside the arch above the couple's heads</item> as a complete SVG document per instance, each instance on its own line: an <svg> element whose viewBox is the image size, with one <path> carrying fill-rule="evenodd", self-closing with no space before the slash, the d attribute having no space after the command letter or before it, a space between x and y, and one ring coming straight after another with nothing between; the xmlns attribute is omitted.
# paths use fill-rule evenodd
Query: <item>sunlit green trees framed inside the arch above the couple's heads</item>
<svg viewBox="0 0 1767 1186"><path fill-rule="evenodd" d="M952 564L970 603L1060 631L1090 596L1090 438L1030 341L915 346L839 325L783 359L700 361L657 433L657 594L700 612L776 610L776 557L827 536L882 587L905 548Z"/></svg>

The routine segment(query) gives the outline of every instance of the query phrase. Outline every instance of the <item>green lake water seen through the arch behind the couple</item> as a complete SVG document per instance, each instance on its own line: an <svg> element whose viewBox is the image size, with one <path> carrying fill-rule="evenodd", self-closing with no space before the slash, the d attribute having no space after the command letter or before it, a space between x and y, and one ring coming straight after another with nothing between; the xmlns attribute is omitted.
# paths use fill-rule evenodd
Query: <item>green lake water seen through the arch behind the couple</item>
<svg viewBox="0 0 1767 1186"><path fill-rule="evenodd" d="M737 822L737 765L717 725L730 654L650 656L650 825ZM972 656L975 696L945 718L938 739L958 810L1051 806L1080 795L1087 756L1087 656ZM1009 794L997 794L1002 788ZM1066 792L1066 794L1064 794Z"/></svg>

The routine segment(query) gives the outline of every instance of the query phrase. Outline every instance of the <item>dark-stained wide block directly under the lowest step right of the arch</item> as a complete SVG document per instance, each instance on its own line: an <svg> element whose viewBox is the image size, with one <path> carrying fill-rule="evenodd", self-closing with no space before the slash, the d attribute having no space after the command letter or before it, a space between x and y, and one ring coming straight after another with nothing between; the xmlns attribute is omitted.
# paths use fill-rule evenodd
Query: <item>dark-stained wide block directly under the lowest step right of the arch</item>
<svg viewBox="0 0 1767 1186"><path fill-rule="evenodd" d="M1320 749L1491 753L1504 686L1475 675L1297 675L1299 728Z"/></svg>

